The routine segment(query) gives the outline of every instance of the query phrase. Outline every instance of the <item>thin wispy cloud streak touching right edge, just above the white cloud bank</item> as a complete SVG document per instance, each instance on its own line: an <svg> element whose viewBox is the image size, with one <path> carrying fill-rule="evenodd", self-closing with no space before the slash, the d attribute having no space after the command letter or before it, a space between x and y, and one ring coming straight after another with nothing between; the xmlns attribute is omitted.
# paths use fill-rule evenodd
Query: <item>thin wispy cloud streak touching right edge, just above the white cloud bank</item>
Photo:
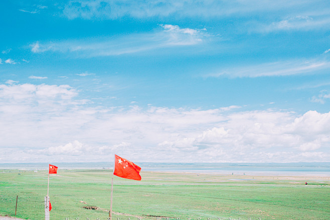
<svg viewBox="0 0 330 220"><path fill-rule="evenodd" d="M207 74L204 77L263 77L263 76L289 76L296 74L310 74L326 71L330 68L328 61L283 61L264 63L254 66L224 69L215 74Z"/></svg>

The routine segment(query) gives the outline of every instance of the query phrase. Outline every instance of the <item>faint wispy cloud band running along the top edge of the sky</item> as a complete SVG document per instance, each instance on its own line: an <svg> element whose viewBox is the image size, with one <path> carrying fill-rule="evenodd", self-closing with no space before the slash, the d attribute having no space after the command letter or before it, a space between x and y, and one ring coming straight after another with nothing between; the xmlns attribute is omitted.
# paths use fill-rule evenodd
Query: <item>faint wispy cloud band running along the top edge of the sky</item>
<svg viewBox="0 0 330 220"><path fill-rule="evenodd" d="M149 17L192 17L201 18L245 16L251 13L263 15L269 12L278 14L299 13L309 10L320 14L318 5L325 7L322 1L175 1L175 0L151 0L151 1L124 1L124 0L73 0L69 1L63 10L64 16L69 19L118 19L129 16L133 18ZM314 13L317 14L317 13Z"/></svg>

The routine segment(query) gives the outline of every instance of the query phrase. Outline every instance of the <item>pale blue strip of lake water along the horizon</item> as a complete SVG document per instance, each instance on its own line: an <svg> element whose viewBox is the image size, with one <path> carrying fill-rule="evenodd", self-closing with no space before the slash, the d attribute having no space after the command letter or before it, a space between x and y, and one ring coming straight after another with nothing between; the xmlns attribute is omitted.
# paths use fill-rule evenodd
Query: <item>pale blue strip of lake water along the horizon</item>
<svg viewBox="0 0 330 220"><path fill-rule="evenodd" d="M330 176L330 162L299 163L150 163L136 162L142 171L214 174L292 174ZM54 163L60 169L112 169L113 162ZM0 169L45 170L48 163L0 163Z"/></svg>

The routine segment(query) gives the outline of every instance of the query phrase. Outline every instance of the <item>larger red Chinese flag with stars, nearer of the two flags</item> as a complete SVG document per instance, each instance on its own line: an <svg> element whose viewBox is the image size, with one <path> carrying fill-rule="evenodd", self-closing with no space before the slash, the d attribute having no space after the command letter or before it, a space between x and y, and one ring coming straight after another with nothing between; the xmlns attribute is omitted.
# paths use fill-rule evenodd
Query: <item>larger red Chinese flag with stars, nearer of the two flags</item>
<svg viewBox="0 0 330 220"><path fill-rule="evenodd" d="M120 156L115 156L113 174L126 179L141 180L141 167Z"/></svg>

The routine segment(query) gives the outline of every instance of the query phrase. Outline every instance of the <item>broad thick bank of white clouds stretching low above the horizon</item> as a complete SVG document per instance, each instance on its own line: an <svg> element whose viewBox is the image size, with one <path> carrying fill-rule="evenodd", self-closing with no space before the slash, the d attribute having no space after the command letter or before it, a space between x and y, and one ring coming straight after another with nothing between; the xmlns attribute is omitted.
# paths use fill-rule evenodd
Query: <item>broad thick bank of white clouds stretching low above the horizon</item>
<svg viewBox="0 0 330 220"><path fill-rule="evenodd" d="M128 151L138 161L186 162L327 161L320 152L330 154L330 112L89 107L78 95L67 85L0 85L0 148L64 161Z"/></svg>

